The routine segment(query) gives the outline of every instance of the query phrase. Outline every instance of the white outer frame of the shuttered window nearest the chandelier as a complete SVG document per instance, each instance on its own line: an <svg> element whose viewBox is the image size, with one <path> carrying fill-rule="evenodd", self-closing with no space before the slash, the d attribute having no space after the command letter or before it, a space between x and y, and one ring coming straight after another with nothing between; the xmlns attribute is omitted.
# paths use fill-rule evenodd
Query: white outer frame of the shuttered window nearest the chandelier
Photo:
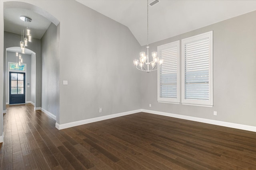
<svg viewBox="0 0 256 170"><path fill-rule="evenodd" d="M160 57L160 50L166 48L172 48L177 46L177 98L160 98L160 67L158 64L157 70L157 100L162 103L180 104L180 40L160 45L157 47L158 57Z"/></svg>

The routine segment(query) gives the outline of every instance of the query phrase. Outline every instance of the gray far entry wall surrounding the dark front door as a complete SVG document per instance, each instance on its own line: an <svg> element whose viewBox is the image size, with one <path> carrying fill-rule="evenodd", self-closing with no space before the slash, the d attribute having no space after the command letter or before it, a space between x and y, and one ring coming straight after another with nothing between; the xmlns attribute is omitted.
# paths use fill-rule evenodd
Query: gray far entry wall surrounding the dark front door
<svg viewBox="0 0 256 170"><path fill-rule="evenodd" d="M26 84L31 82L31 55L26 55L26 54L22 54L22 58L23 58L23 64L26 64ZM8 76L8 62L14 62L16 63L17 58L16 58L16 53L14 52L6 52L6 76ZM8 86L8 82L6 84ZM6 87L6 102L8 102L8 91L7 91L7 87ZM30 86L28 87L26 85L25 87L26 90L26 102L31 101L31 88Z"/></svg>

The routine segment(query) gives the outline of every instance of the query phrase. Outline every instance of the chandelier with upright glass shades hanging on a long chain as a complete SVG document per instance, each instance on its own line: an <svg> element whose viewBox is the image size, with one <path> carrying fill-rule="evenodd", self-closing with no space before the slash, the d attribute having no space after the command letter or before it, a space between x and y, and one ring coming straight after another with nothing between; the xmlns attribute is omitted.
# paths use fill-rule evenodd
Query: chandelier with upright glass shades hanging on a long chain
<svg viewBox="0 0 256 170"><path fill-rule="evenodd" d="M148 0L147 0L147 24L148 24ZM148 25L147 25L147 44L148 44ZM158 68L155 69L156 64L159 64L161 66L164 62L163 59L159 59L159 57L157 57L157 52L152 52L153 60L149 62L148 48L149 46L147 45L147 55L145 52L140 52L140 60L133 61L134 65L138 70L145 71L145 72L151 72L151 71L157 70Z"/></svg>

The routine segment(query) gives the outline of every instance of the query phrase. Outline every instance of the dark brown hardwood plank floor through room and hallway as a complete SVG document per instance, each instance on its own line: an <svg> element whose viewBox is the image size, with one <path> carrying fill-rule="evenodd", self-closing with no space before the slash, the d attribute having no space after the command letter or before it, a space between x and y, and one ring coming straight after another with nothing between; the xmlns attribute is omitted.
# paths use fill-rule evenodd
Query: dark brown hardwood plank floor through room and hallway
<svg viewBox="0 0 256 170"><path fill-rule="evenodd" d="M16 105L4 114L0 160L2 170L256 170L256 133L148 113L58 130Z"/></svg>

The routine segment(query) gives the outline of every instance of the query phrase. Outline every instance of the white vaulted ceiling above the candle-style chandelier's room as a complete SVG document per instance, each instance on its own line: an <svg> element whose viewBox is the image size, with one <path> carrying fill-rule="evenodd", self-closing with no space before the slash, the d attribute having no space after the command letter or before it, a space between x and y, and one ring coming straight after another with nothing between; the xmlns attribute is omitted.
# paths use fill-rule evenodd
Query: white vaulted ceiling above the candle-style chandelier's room
<svg viewBox="0 0 256 170"><path fill-rule="evenodd" d="M76 0L126 25L147 44L146 0ZM149 0L149 3L154 0ZM148 43L153 43L256 10L256 0L160 0L149 7Z"/></svg>

